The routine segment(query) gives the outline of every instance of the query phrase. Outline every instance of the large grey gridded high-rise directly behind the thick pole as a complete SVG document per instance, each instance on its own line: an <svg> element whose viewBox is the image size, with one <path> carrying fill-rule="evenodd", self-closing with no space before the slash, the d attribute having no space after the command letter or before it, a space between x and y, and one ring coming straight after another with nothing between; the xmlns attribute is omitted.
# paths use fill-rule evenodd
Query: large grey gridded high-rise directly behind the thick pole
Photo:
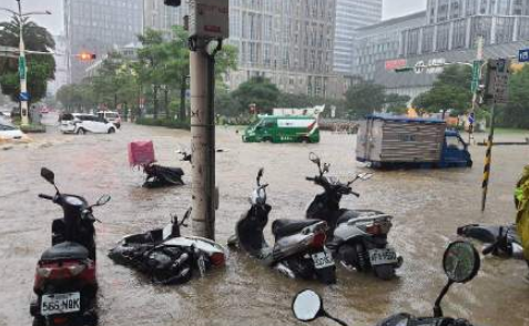
<svg viewBox="0 0 529 326"><path fill-rule="evenodd" d="M187 12L185 3L167 8L163 0L143 1L145 29L169 31L182 24ZM261 75L285 92L342 95L343 84L333 72L335 3L336 0L231 0L226 43L238 49L238 69L226 75L228 86L236 89Z"/></svg>

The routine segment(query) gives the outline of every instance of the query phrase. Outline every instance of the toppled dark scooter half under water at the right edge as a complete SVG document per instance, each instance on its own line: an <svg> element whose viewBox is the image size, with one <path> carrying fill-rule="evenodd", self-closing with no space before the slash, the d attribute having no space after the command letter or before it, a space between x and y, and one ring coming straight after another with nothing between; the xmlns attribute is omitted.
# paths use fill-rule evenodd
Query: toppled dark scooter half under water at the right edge
<svg viewBox="0 0 529 326"><path fill-rule="evenodd" d="M523 258L523 247L516 230L516 225L480 225L469 224L457 228L457 234L470 237L486 244L484 255Z"/></svg>

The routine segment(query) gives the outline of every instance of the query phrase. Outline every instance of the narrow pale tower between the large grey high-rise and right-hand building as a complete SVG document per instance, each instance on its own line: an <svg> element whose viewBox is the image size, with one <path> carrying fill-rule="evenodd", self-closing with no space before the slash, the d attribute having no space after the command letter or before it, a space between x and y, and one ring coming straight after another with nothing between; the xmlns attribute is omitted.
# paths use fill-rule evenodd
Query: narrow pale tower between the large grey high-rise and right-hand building
<svg viewBox="0 0 529 326"><path fill-rule="evenodd" d="M353 73L357 29L382 20L383 0L336 0L334 71Z"/></svg>

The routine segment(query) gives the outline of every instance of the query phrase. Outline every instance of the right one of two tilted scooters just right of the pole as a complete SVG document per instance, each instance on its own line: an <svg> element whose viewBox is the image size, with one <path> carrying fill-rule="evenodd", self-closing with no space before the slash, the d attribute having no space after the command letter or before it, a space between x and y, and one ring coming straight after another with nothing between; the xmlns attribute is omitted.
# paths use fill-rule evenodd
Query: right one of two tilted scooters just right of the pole
<svg viewBox="0 0 529 326"><path fill-rule="evenodd" d="M353 191L352 184L365 181L372 173L357 174L352 181L342 183L326 175L330 164L324 163L314 153L309 160L317 165L318 175L306 177L322 186L324 192L316 195L309 204L306 217L326 221L329 228L327 247L333 256L347 269L358 272L373 271L380 279L395 277L395 269L403 264L403 257L388 245L387 235L391 230L393 216L373 210L345 210L339 207L344 195L360 196Z"/></svg>

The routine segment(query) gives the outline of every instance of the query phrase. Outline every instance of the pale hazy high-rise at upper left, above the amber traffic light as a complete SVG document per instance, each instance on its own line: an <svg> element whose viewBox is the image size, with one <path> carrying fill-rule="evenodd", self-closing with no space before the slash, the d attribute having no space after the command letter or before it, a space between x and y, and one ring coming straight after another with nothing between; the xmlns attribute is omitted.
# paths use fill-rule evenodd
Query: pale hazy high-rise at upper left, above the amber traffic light
<svg viewBox="0 0 529 326"><path fill-rule="evenodd" d="M75 54L106 54L138 40L142 32L142 0L64 0L64 28L70 82L79 82L92 62Z"/></svg>

